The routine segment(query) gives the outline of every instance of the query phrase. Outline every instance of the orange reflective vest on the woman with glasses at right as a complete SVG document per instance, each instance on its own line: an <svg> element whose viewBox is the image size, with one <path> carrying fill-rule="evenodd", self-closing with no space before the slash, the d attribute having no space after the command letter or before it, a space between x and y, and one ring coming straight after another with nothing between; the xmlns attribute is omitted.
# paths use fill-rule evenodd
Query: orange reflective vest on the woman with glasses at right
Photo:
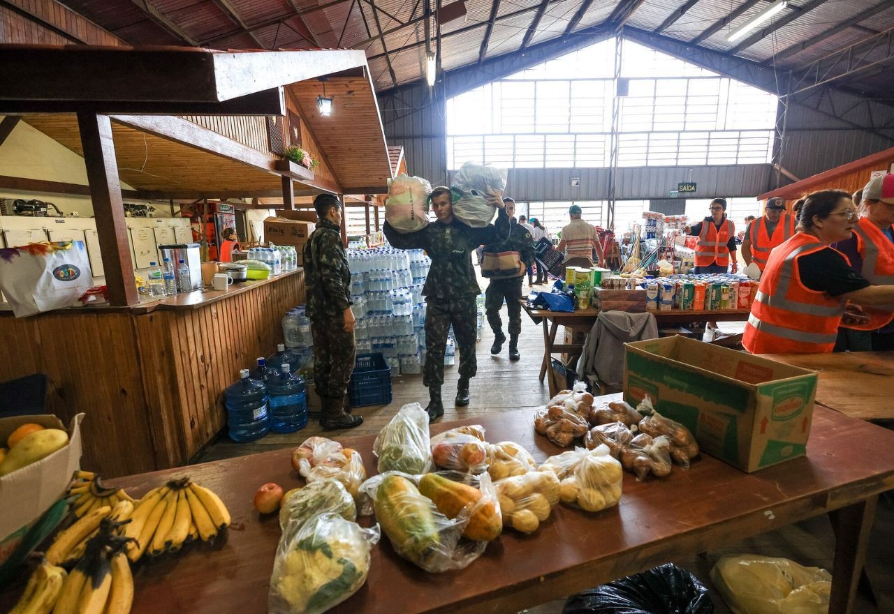
<svg viewBox="0 0 894 614"><path fill-rule="evenodd" d="M742 337L748 352L832 351L846 301L804 286L797 265L801 256L827 248L815 236L798 232L770 253Z"/></svg>

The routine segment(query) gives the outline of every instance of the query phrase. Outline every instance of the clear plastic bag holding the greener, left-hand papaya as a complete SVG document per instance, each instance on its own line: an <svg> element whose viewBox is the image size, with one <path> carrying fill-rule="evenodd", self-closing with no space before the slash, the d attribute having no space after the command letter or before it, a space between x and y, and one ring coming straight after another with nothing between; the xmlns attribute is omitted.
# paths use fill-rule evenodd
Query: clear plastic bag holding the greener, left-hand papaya
<svg viewBox="0 0 894 614"><path fill-rule="evenodd" d="M394 471L368 479L362 491L373 501L375 519L401 558L431 572L465 568L487 545L461 539L472 507L449 519L419 492L415 479Z"/></svg>

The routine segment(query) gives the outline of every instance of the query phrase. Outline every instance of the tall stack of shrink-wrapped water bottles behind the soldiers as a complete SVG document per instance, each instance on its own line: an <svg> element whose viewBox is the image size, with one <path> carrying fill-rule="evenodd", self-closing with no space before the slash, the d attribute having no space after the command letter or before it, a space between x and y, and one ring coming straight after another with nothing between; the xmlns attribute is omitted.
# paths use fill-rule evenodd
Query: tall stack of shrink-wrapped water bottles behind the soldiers
<svg viewBox="0 0 894 614"><path fill-rule="evenodd" d="M431 259L422 250L380 247L349 249L348 263L357 353L382 353L394 375L419 373L426 341L422 286Z"/></svg>

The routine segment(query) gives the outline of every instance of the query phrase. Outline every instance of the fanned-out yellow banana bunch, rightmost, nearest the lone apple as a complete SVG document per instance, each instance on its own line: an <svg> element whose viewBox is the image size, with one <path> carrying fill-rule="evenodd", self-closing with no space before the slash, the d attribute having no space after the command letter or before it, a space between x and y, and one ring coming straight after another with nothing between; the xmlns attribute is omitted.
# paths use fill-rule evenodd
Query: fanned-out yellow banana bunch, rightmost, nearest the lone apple
<svg viewBox="0 0 894 614"><path fill-rule="evenodd" d="M220 497L184 477L149 491L122 528L133 540L127 556L136 562L144 553L157 556L196 539L211 541L229 525L230 512Z"/></svg>

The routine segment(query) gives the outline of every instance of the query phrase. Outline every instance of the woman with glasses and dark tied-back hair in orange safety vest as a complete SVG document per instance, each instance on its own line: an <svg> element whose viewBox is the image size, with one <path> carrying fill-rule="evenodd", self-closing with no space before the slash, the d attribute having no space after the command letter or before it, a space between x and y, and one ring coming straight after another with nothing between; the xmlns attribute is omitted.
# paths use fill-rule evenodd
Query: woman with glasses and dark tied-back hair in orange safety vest
<svg viewBox="0 0 894 614"><path fill-rule="evenodd" d="M856 221L847 192L806 196L797 234L770 253L763 270L742 339L748 352L831 352L842 323L868 321L859 305L894 311L894 286L873 286L831 247Z"/></svg>

